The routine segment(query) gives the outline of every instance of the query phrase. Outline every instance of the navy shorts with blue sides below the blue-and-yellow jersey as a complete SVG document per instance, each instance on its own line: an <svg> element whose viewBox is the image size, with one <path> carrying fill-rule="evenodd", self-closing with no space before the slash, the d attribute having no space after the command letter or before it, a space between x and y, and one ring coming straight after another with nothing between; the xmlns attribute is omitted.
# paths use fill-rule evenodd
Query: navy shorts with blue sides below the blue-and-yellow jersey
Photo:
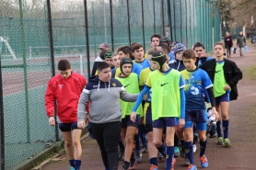
<svg viewBox="0 0 256 170"><path fill-rule="evenodd" d="M185 126L183 129L192 128L194 122L197 130L206 130L207 120L208 117L205 110L186 110Z"/></svg>

